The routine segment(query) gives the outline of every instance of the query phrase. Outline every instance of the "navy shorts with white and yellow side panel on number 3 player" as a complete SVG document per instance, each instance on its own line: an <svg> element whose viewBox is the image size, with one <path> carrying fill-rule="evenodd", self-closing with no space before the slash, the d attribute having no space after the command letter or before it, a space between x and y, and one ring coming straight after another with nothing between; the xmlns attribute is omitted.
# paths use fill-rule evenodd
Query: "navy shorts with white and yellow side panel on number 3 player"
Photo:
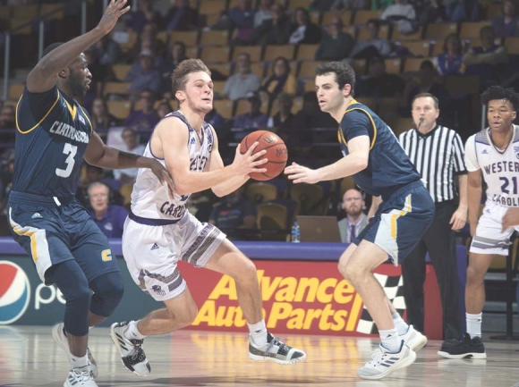
<svg viewBox="0 0 519 387"><path fill-rule="evenodd" d="M56 202L13 191L8 206L13 238L32 257L46 285L53 283L48 268L70 259L78 262L88 282L119 271L105 234L75 198Z"/></svg>

